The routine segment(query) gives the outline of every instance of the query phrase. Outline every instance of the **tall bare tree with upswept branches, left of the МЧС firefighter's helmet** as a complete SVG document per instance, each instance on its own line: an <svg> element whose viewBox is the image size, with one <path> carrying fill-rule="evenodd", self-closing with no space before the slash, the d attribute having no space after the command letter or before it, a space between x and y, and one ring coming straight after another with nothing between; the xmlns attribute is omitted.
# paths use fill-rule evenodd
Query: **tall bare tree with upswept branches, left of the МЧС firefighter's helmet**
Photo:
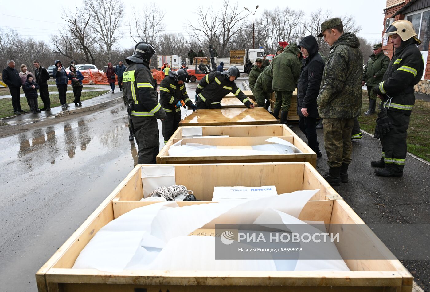
<svg viewBox="0 0 430 292"><path fill-rule="evenodd" d="M107 54L106 61L112 61L112 48L120 38L122 26L123 3L121 0L86 0L92 20L90 27L98 35L99 45Z"/></svg>

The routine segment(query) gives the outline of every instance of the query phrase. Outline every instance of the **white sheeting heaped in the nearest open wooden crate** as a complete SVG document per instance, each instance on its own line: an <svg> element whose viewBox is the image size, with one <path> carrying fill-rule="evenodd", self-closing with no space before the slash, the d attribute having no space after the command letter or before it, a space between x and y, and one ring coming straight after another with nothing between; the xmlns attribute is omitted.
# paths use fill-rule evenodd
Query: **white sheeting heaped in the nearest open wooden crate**
<svg viewBox="0 0 430 292"><path fill-rule="evenodd" d="M102 227L81 251L74 268L108 272L124 269L279 270L279 267L293 270L291 262L215 261L215 237L188 237L187 234L199 228L214 228L218 223L252 224L272 209L297 217L315 193L297 191L257 200L184 207L171 201L137 208ZM339 268L333 265L329 270Z"/></svg>

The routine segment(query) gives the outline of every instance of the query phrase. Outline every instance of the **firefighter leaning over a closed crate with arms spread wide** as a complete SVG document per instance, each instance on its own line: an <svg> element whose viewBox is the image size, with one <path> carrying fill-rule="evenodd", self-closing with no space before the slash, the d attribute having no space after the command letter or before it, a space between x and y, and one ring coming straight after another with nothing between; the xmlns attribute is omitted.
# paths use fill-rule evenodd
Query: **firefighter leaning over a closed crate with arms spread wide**
<svg viewBox="0 0 430 292"><path fill-rule="evenodd" d="M196 88L196 106L198 109L221 108L221 100L232 92L247 108L254 108L254 104L237 87L234 80L240 72L236 66L231 66L227 71L212 71L207 74Z"/></svg>

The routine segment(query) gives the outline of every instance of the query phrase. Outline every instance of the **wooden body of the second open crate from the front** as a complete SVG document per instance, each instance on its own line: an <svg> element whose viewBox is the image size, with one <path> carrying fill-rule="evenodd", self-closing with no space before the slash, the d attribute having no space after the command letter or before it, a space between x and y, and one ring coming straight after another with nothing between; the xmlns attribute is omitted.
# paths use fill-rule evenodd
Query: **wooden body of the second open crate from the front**
<svg viewBox="0 0 430 292"><path fill-rule="evenodd" d="M187 127L186 127L187 128ZM307 146L301 138L298 137L286 125L255 125L255 126L203 126L202 135L227 137L214 138L191 138L183 137L182 129L179 127L160 153L157 155L157 163L255 163L255 162L309 162L316 167L316 153ZM268 138L279 137L291 142L300 149L301 154L275 154L275 155L243 155L243 156L205 156L205 157L183 157L169 156L168 150L176 142L200 143L206 145L224 145L224 146L247 146L257 144L270 144L266 142Z"/></svg>

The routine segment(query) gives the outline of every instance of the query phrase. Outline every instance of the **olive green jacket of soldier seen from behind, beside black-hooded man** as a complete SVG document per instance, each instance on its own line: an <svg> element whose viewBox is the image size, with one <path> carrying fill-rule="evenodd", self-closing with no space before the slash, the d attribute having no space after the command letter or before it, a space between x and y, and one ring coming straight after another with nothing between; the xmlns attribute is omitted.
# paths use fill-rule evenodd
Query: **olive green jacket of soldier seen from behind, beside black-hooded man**
<svg viewBox="0 0 430 292"><path fill-rule="evenodd" d="M284 51L272 59L273 83L275 91L293 92L301 72L301 62L296 43L290 43Z"/></svg>

